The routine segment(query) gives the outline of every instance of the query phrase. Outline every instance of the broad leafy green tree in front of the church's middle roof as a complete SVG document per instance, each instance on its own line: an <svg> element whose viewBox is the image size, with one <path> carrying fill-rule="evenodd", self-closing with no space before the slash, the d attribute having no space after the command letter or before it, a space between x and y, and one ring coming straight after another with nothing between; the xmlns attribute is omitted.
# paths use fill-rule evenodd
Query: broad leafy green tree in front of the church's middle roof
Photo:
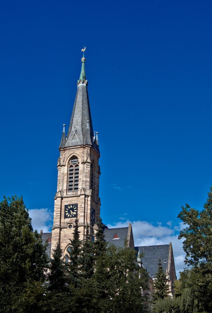
<svg viewBox="0 0 212 313"><path fill-rule="evenodd" d="M101 312L145 312L147 298L142 290L148 289L148 275L137 264L136 251L128 248L127 239L124 247L111 244L102 253L93 281Z"/></svg>

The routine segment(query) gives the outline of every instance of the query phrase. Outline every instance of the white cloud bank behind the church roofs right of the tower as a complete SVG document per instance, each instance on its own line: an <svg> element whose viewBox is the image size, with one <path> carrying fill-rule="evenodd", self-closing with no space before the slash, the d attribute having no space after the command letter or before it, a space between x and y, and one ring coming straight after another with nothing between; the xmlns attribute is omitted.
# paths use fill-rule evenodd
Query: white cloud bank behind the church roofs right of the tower
<svg viewBox="0 0 212 313"><path fill-rule="evenodd" d="M129 222L129 220L118 222L114 225L108 225L108 228L127 227ZM167 224L169 222L171 221L168 221ZM161 223L157 223L157 226L154 226L152 223L140 220L133 221L131 224L135 246L152 246L172 243L176 275L179 278L178 272L185 267L185 252L182 248L183 239L179 240L178 235L180 230L185 228L186 225L183 225L183 223L180 222L179 226L171 228L171 225L169 224L170 227L161 226Z"/></svg>

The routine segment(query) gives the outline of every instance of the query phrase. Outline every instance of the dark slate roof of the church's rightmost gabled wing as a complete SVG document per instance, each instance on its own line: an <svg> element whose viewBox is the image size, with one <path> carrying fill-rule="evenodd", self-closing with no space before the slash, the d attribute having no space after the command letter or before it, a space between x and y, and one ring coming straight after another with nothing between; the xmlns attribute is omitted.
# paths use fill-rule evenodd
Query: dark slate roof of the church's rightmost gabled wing
<svg viewBox="0 0 212 313"><path fill-rule="evenodd" d="M166 273L166 269L168 268L168 260L169 260L169 244L161 244L156 246L141 246L135 247L139 253L145 253L142 258L142 265L147 272L155 278L155 273L158 269L159 258L161 258L162 267ZM166 260L166 262L164 262Z"/></svg>

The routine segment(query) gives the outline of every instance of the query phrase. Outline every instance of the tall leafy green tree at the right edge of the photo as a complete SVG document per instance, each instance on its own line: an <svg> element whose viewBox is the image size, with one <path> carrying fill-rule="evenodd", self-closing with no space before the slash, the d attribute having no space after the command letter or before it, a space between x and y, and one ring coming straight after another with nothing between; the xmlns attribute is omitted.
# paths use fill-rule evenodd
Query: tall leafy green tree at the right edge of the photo
<svg viewBox="0 0 212 313"><path fill-rule="evenodd" d="M191 266L190 270L186 270L186 285L182 301L187 311L192 310L192 307L210 311L212 310L212 187L200 212L188 204L181 209L178 218L186 227L181 230L178 238L184 239L185 264Z"/></svg>

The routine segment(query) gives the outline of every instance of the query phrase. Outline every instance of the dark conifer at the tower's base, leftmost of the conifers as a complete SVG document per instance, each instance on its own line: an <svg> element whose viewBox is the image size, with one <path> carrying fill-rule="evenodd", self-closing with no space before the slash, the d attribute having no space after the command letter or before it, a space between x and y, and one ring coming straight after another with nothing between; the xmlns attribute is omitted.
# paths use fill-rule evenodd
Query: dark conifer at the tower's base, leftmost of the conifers
<svg viewBox="0 0 212 313"><path fill-rule="evenodd" d="M52 259L50 261L50 273L48 279L50 281L49 290L61 292L65 286L65 266L62 259L62 249L58 242L53 250Z"/></svg>

